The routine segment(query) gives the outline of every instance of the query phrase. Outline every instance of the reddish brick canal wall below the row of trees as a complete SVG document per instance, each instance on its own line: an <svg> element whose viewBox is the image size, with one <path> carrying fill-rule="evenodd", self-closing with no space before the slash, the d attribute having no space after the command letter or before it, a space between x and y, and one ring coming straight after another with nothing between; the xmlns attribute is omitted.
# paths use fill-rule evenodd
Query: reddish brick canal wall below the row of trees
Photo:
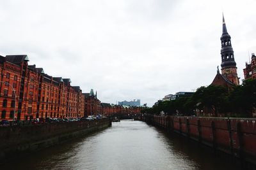
<svg viewBox="0 0 256 170"><path fill-rule="evenodd" d="M145 122L256 165L256 119L147 115Z"/></svg>

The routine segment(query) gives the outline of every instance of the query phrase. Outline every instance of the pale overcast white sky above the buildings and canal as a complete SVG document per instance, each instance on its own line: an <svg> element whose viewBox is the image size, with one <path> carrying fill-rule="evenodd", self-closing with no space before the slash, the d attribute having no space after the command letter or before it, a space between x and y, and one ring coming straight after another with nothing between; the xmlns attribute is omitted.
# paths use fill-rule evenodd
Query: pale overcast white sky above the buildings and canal
<svg viewBox="0 0 256 170"><path fill-rule="evenodd" d="M221 64L222 12L237 73L256 53L256 1L0 0L0 55L26 54L103 103L210 85Z"/></svg>

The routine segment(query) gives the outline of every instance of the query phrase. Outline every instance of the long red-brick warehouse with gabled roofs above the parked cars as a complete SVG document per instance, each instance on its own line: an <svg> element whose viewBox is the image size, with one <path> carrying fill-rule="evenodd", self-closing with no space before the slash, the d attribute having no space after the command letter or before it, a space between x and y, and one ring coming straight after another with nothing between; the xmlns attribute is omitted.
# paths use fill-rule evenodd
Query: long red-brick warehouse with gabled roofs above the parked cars
<svg viewBox="0 0 256 170"><path fill-rule="evenodd" d="M28 55L0 56L0 120L84 116L80 87L28 62Z"/></svg>

